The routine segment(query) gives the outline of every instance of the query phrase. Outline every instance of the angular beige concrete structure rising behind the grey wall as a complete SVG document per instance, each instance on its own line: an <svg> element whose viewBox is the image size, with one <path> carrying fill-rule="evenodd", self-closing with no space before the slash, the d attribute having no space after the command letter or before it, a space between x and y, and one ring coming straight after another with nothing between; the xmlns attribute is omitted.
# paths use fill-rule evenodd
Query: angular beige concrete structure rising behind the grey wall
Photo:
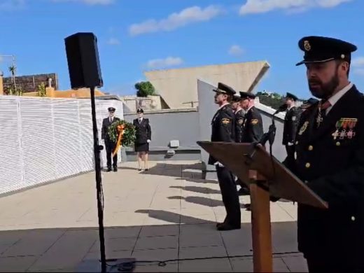
<svg viewBox="0 0 364 273"><path fill-rule="evenodd" d="M239 91L253 90L269 64L262 62L241 62L233 64L198 66L184 69L167 69L145 72L146 78L153 84L158 94L169 108L181 109L197 106L197 79L203 78L217 85L223 82Z"/></svg>

